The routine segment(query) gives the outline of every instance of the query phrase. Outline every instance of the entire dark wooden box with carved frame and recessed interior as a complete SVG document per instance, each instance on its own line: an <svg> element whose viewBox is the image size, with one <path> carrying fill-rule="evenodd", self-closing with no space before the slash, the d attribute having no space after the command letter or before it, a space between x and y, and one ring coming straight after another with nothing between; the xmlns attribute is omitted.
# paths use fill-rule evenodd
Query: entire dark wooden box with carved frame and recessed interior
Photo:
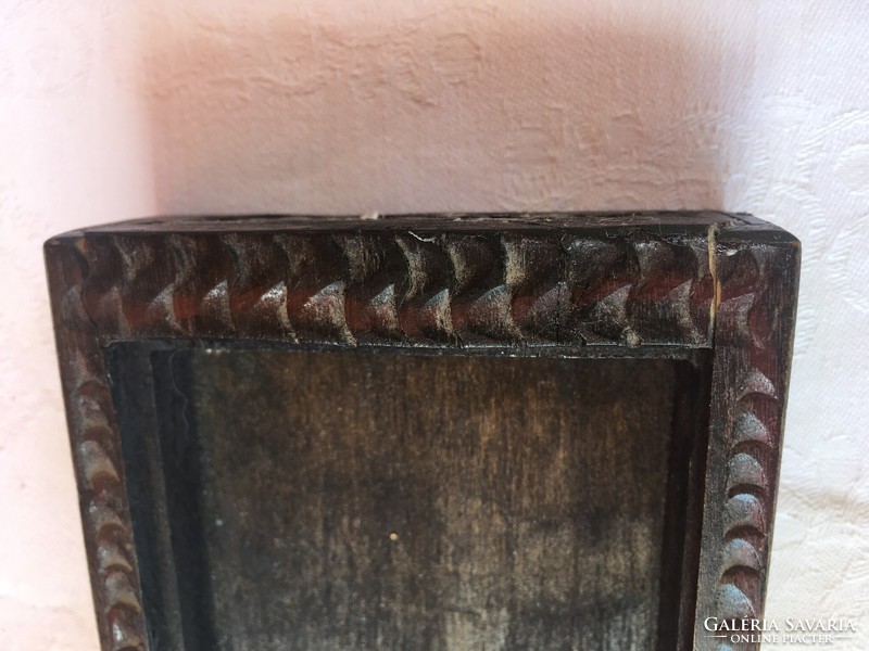
<svg viewBox="0 0 869 651"><path fill-rule="evenodd" d="M788 233L181 218L46 256L105 650L756 648L703 621L763 613Z"/></svg>

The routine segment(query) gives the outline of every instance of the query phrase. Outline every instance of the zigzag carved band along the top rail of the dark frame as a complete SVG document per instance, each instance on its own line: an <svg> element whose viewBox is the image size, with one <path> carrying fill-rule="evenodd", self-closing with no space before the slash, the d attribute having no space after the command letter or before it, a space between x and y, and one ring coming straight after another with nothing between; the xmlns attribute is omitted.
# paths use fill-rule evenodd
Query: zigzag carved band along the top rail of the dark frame
<svg viewBox="0 0 869 651"><path fill-rule="evenodd" d="M113 241L85 242L86 302L104 341L135 333L343 345L710 345L701 237L685 244L375 231Z"/></svg>

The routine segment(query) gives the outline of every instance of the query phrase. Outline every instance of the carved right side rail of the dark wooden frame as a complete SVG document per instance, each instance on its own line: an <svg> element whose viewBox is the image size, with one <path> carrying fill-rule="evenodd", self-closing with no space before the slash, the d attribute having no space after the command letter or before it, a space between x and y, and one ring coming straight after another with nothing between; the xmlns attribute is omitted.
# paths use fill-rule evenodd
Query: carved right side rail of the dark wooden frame
<svg viewBox="0 0 869 651"><path fill-rule="evenodd" d="M695 648L750 651L704 635L702 621L761 618L795 319L798 242L756 244L739 231L719 244L718 317ZM715 457L718 448L719 457ZM704 563L707 565L704 569ZM705 578L704 578L705 570ZM714 591L714 593L713 593Z"/></svg>

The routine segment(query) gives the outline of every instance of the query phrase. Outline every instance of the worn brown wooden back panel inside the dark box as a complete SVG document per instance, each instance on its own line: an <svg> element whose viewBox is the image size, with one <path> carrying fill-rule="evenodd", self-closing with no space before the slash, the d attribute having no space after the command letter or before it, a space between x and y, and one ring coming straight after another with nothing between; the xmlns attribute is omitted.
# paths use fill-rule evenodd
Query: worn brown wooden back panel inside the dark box
<svg viewBox="0 0 869 651"><path fill-rule="evenodd" d="M655 648L671 362L191 363L221 649Z"/></svg>

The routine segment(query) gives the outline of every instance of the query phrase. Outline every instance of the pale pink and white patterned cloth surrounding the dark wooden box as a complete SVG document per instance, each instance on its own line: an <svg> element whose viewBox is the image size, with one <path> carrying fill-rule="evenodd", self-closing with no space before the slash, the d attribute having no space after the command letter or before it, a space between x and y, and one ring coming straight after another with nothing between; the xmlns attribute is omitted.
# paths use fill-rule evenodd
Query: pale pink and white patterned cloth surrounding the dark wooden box
<svg viewBox="0 0 869 651"><path fill-rule="evenodd" d="M722 207L803 238L769 614L869 648L869 4L0 5L0 649L91 650L41 241L150 213Z"/></svg>

